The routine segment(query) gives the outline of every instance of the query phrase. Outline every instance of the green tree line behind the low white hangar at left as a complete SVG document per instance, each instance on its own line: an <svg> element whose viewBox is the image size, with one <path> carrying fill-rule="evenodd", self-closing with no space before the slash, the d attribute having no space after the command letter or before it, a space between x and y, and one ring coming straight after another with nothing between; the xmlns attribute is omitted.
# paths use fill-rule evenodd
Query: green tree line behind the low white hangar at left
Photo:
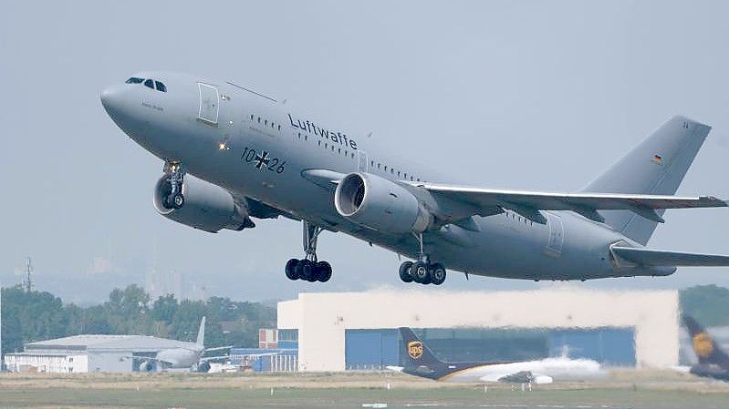
<svg viewBox="0 0 729 409"><path fill-rule="evenodd" d="M143 288L131 284L111 291L107 302L80 307L47 291L16 286L2 289L3 353L22 351L24 343L82 333L194 341L203 316L207 347L256 347L259 328L276 328L276 309L259 302L224 297L179 301L172 294L152 301Z"/></svg>

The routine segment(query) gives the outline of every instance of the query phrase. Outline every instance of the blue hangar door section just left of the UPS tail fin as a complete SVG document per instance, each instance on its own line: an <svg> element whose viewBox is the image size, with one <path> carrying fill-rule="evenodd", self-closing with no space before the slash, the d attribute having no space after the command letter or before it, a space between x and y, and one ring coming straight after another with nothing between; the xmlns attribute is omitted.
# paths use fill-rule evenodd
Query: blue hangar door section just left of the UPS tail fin
<svg viewBox="0 0 729 409"><path fill-rule="evenodd" d="M345 330L344 362L348 370L385 369L397 365L398 330Z"/></svg>

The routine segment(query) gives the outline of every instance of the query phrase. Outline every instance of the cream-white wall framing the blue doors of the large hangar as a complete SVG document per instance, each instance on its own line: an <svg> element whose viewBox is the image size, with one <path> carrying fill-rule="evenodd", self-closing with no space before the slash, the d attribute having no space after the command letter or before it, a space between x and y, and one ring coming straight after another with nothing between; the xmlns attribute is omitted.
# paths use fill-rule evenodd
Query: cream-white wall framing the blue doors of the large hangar
<svg viewBox="0 0 729 409"><path fill-rule="evenodd" d="M677 291L430 290L301 293L278 303L278 328L298 330L299 371L343 371L345 330L634 327L638 366L676 365Z"/></svg>

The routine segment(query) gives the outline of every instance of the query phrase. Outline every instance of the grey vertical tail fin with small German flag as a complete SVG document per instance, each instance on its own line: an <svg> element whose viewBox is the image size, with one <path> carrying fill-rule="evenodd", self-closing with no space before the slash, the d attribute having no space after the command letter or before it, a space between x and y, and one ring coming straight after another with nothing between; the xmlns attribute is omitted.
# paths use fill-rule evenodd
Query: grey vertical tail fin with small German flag
<svg viewBox="0 0 729 409"><path fill-rule="evenodd" d="M672 195L681 185L711 127L676 116L633 148L598 179L582 189L590 193ZM664 210L659 210L662 215ZM605 222L632 240L648 243L656 221L630 210L601 210Z"/></svg>

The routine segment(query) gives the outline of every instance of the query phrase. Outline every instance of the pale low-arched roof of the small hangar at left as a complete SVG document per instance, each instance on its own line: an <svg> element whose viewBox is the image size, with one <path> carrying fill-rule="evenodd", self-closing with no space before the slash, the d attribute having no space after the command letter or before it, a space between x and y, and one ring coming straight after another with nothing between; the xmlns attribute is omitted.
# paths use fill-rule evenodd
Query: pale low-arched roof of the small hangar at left
<svg viewBox="0 0 729 409"><path fill-rule="evenodd" d="M194 343L168 340L147 335L73 335L55 340L26 343L29 351L124 350L156 351L168 348L190 348Z"/></svg>

